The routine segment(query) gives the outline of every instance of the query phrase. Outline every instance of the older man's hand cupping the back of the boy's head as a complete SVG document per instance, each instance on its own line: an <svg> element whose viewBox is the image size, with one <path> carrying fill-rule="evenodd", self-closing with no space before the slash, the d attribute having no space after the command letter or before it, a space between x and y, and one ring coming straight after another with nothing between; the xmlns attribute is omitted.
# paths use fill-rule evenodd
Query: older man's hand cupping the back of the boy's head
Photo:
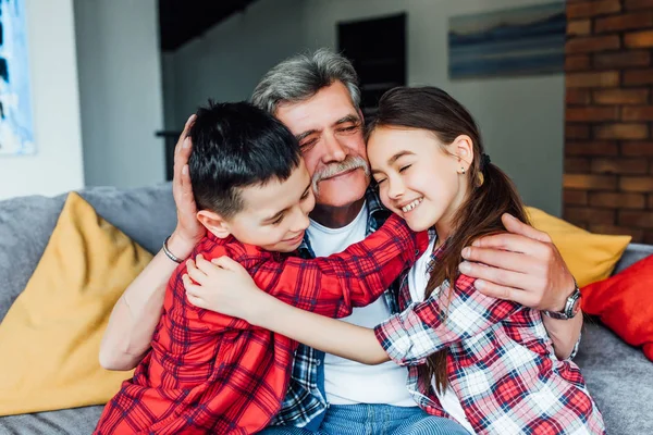
<svg viewBox="0 0 653 435"><path fill-rule="evenodd" d="M177 208L177 225L168 247L176 257L186 258L206 234L206 228L197 220L197 204L193 196L188 159L193 151L193 141L188 132L195 122L195 115L186 121L184 130L174 148L174 175L172 178L172 196Z"/></svg>

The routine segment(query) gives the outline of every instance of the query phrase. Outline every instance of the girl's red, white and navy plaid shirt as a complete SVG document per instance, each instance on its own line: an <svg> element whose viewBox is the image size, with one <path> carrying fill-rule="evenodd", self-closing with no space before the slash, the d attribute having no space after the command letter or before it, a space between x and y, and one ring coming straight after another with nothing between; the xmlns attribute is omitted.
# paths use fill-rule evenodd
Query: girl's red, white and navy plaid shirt
<svg viewBox="0 0 653 435"><path fill-rule="evenodd" d="M432 253L431 268L442 250ZM418 370L428 356L448 348L448 380L476 433L604 434L578 366L556 359L541 313L483 296L473 284L461 275L452 295L445 282L418 303L404 279L404 311L374 330L387 355L408 365L408 389L417 403L449 417Z"/></svg>

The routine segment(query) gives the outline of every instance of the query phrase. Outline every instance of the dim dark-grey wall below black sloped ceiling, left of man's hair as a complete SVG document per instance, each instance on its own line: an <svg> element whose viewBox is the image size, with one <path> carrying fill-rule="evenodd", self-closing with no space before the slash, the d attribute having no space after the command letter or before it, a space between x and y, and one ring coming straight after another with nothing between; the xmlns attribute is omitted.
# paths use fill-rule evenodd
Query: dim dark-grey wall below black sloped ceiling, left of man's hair
<svg viewBox="0 0 653 435"><path fill-rule="evenodd" d="M208 98L249 99L270 67L305 48L305 0L258 0L167 55L173 58L163 70L167 128L181 130Z"/></svg>

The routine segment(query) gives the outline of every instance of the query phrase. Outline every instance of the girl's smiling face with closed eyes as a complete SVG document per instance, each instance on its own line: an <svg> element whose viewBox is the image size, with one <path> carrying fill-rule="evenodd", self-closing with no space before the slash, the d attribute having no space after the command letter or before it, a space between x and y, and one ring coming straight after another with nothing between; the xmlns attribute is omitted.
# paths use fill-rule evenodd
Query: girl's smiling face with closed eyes
<svg viewBox="0 0 653 435"><path fill-rule="evenodd" d="M370 135L368 157L383 204L410 229L435 226L446 239L467 195L471 139L461 135L444 145L426 129L380 126Z"/></svg>

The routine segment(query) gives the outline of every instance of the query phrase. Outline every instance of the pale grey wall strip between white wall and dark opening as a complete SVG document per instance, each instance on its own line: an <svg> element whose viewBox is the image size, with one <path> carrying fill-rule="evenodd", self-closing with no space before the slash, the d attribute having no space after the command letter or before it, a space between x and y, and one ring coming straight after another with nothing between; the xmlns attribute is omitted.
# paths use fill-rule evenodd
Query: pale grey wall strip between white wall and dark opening
<svg viewBox="0 0 653 435"><path fill-rule="evenodd" d="M75 0L88 186L164 179L157 0Z"/></svg>

